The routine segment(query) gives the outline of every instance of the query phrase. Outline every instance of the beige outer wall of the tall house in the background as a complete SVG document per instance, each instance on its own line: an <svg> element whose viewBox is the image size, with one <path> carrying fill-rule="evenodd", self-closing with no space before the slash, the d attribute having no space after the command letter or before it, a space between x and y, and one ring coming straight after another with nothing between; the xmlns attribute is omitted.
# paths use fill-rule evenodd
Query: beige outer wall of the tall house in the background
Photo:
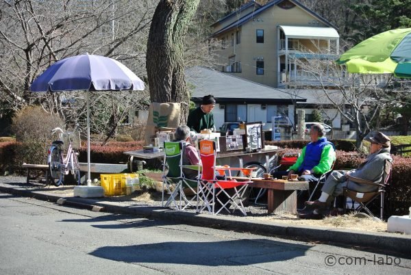
<svg viewBox="0 0 411 275"><path fill-rule="evenodd" d="M235 30L229 31L218 38L228 38L227 49L218 50L219 62L229 65L229 57L235 56L236 62L241 62L242 73L232 73L235 76L249 79L267 86L277 87L277 25L298 25L313 27L312 21L317 20L299 7L284 10L273 6L258 14L253 20L241 26L241 42L234 47L229 43ZM319 23L318 27L327 27ZM256 30L264 29L264 43L256 43ZM310 45L309 40L303 41ZM256 74L256 58L264 58L264 75ZM221 70L221 66L217 67Z"/></svg>

